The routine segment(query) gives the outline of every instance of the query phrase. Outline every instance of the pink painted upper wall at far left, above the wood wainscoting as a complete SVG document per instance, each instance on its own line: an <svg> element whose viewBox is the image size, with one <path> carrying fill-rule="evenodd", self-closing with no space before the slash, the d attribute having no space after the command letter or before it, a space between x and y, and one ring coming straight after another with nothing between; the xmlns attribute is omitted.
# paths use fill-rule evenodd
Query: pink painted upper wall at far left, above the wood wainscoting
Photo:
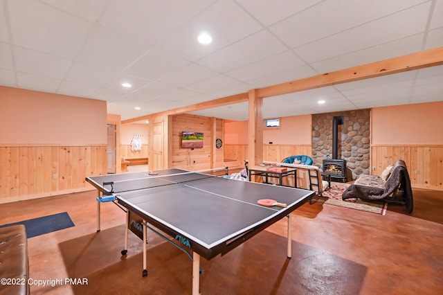
<svg viewBox="0 0 443 295"><path fill-rule="evenodd" d="M0 87L1 145L107 144L107 105L60 94Z"/></svg>

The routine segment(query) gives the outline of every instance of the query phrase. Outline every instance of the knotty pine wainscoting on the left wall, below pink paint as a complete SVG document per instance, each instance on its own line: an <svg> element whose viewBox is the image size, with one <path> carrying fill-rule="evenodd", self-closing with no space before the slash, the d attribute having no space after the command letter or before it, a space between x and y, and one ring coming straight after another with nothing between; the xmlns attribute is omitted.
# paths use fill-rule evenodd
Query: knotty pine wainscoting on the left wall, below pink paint
<svg viewBox="0 0 443 295"><path fill-rule="evenodd" d="M92 186L85 177L107 173L107 147L0 147L0 203L60 195Z"/></svg>

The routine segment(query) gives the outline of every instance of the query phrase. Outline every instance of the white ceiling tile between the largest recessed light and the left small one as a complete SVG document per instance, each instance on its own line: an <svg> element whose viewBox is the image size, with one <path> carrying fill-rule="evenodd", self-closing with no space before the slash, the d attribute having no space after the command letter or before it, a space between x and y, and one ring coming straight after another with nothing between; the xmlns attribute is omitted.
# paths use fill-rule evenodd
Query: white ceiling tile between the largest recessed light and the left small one
<svg viewBox="0 0 443 295"><path fill-rule="evenodd" d="M160 48L152 48L129 66L125 70L125 73L141 78L156 80L168 73L174 73L174 71L181 69L187 64L189 64L187 60L165 53Z"/></svg>

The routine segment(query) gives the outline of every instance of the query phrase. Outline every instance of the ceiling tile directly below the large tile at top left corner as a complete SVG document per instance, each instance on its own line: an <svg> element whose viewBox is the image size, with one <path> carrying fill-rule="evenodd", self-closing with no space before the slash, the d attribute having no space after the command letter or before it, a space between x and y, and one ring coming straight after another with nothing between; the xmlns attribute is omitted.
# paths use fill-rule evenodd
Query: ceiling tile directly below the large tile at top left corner
<svg viewBox="0 0 443 295"><path fill-rule="evenodd" d="M69 67L71 60L65 60L53 55L30 51L28 49L14 47L15 67L17 71L42 75L48 78L63 78Z"/></svg>

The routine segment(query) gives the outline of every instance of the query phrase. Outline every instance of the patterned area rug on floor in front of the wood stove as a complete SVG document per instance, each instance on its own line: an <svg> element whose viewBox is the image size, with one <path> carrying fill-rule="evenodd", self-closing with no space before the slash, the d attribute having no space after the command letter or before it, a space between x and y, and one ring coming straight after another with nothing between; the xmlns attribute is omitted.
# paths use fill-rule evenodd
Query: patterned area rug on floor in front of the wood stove
<svg viewBox="0 0 443 295"><path fill-rule="evenodd" d="M361 199L347 199L343 201L341 195L350 184L341 184L339 182L331 182L331 188L323 192L322 197L314 197L313 201L330 204L334 206L352 208L355 210L366 211L371 213L377 213L386 215L386 208L388 204L386 202L365 202Z"/></svg>

